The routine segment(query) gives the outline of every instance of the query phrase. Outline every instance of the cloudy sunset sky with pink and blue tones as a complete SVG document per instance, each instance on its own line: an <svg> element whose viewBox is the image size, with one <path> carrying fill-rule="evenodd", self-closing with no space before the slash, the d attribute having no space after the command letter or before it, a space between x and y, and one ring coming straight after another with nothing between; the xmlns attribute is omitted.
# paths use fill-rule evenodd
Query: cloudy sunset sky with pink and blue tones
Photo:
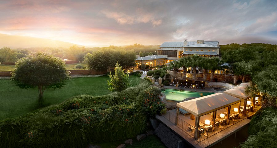
<svg viewBox="0 0 277 148"><path fill-rule="evenodd" d="M205 40L277 44L276 0L0 1L0 33L87 47Z"/></svg>

